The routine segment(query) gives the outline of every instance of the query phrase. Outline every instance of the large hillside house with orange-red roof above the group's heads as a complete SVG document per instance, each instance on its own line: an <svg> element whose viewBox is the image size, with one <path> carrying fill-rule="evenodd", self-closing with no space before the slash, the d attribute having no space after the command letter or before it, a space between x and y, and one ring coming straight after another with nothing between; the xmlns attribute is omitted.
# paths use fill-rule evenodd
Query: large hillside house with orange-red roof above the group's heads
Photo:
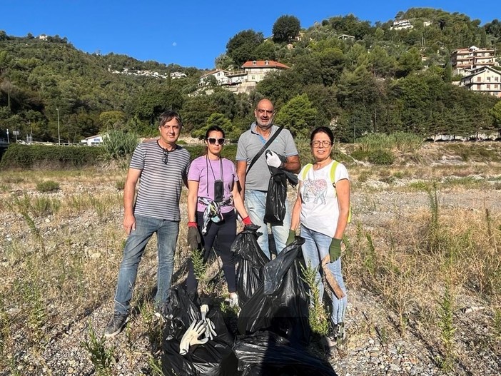
<svg viewBox="0 0 501 376"><path fill-rule="evenodd" d="M263 81L268 73L288 68L285 64L273 60L246 61L240 71L215 69L203 74L198 87L207 86L208 76L214 76L218 86L223 86L234 93L246 93L255 88L258 82Z"/></svg>

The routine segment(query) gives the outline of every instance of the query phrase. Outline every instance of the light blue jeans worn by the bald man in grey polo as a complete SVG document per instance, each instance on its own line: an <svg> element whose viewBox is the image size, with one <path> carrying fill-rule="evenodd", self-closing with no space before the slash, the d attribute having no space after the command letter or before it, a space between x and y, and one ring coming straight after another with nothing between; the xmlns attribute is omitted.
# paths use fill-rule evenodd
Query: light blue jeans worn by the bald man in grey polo
<svg viewBox="0 0 501 376"><path fill-rule="evenodd" d="M258 244L261 250L270 257L270 248L268 246L268 224L264 223L264 216L266 210L266 193L260 190L246 190L246 209L252 223L259 225L258 232L263 233L258 238ZM285 218L283 218L283 225L273 225L271 233L275 239L275 248L277 253L280 253L285 248L290 229L290 209L285 205Z"/></svg>

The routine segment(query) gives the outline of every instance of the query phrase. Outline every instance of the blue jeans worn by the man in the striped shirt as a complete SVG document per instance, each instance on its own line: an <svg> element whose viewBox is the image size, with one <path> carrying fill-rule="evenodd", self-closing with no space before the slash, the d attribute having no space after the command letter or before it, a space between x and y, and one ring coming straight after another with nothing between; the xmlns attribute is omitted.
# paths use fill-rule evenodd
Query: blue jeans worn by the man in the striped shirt
<svg viewBox="0 0 501 376"><path fill-rule="evenodd" d="M136 215L136 230L131 231L128 235L125 248L123 249L122 263L118 271L115 312L126 314L131 308L130 303L133 288L136 284L138 265L153 233L156 233L158 250L155 300L158 307L161 307L167 301L171 290L179 222Z"/></svg>

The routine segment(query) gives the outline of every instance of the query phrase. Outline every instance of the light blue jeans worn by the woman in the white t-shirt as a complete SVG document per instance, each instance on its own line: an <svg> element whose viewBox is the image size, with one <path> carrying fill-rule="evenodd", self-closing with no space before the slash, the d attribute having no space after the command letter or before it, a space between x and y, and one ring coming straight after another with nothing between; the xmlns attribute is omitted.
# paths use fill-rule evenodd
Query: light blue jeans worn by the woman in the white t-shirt
<svg viewBox="0 0 501 376"><path fill-rule="evenodd" d="M322 300L323 283L322 278L320 278L320 268L322 268L320 262L326 255L329 254L330 242L333 238L310 230L303 225L301 225L300 235L305 238L305 243L301 245L301 248L303 249L303 258L305 259L306 266L308 267L308 263L310 263L311 268L315 268L317 270L315 280L317 281L318 290L320 292L320 300ZM343 273L341 272L341 258L339 257L338 260L335 260L333 263L328 263L327 265L333 272L335 279L338 281L339 287L345 293L345 297L343 299L336 298L333 293L330 294L333 300L330 322L335 325L339 322L343 322L348 298L346 297L345 282L343 281Z"/></svg>

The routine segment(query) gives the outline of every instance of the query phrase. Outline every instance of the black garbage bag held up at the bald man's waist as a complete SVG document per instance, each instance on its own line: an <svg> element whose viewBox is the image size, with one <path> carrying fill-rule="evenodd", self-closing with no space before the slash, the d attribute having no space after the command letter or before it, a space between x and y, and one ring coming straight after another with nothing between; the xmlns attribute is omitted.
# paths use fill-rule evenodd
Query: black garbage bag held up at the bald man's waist
<svg viewBox="0 0 501 376"><path fill-rule="evenodd" d="M271 166L268 168L271 176L266 194L264 222L270 225L283 225L285 205L287 205L287 182L295 186L298 184L298 177L281 168Z"/></svg>

